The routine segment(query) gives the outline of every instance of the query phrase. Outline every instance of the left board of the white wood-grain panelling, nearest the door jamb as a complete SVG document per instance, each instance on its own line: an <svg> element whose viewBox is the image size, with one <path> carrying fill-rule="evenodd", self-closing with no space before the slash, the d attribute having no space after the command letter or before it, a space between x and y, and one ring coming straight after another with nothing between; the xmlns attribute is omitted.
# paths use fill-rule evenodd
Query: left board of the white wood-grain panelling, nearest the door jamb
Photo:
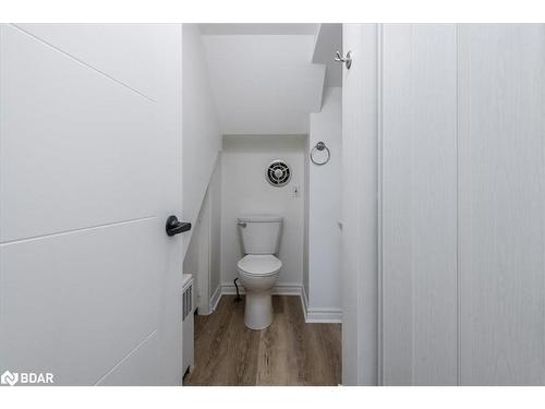
<svg viewBox="0 0 545 409"><path fill-rule="evenodd" d="M382 47L382 381L456 385L456 25L385 24Z"/></svg>

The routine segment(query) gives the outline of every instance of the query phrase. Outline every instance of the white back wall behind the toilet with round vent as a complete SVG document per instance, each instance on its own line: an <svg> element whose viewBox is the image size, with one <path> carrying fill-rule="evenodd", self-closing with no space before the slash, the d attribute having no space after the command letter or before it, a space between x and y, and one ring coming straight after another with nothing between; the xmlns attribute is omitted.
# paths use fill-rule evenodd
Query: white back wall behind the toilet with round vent
<svg viewBox="0 0 545 409"><path fill-rule="evenodd" d="M279 258L283 267L278 285L301 286L304 241L304 136L225 136L221 157L221 282L232 285L241 252L237 217L270 213L284 217ZM265 170L274 159L292 169L290 182L270 185ZM292 187L300 195L292 197Z"/></svg>

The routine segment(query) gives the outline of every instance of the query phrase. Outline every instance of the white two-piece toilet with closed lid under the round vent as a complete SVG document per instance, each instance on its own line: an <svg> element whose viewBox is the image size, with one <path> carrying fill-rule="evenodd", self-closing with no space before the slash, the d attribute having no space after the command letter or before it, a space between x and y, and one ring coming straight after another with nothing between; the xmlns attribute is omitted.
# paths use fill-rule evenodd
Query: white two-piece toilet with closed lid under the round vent
<svg viewBox="0 0 545 409"><path fill-rule="evenodd" d="M270 290L275 287L282 262L275 257L280 244L282 217L255 215L238 219L242 251L246 254L237 263L237 270L246 289L244 324L251 329L264 329L272 322Z"/></svg>

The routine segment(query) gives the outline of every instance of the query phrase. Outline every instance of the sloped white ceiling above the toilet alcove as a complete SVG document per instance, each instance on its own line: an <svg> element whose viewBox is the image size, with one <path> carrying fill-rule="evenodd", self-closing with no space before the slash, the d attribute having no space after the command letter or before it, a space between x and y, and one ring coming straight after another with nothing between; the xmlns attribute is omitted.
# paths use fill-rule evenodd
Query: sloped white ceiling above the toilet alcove
<svg viewBox="0 0 545 409"><path fill-rule="evenodd" d="M308 133L308 115L322 107L326 71L328 84L340 83L337 65L327 62L327 48L339 41L326 41L338 31L319 24L199 27L223 134Z"/></svg>

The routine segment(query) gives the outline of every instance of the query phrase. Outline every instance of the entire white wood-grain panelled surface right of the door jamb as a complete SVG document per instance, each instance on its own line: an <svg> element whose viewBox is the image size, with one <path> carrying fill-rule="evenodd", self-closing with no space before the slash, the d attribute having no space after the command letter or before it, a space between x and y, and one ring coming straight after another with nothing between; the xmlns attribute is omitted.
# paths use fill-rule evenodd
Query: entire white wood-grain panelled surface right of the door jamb
<svg viewBox="0 0 545 409"><path fill-rule="evenodd" d="M382 382L543 385L545 26L382 47Z"/></svg>

